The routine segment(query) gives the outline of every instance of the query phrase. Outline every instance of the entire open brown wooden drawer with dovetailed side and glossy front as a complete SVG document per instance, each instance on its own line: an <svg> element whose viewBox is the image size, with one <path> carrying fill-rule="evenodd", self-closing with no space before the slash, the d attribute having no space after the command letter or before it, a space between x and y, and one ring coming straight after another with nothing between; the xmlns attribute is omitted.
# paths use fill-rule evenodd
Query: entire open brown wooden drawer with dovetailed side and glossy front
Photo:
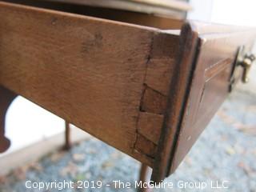
<svg viewBox="0 0 256 192"><path fill-rule="evenodd" d="M0 2L2 98L28 98L151 166L155 182L182 162L229 93L238 47L249 52L256 38L244 27L23 2L34 7Z"/></svg>

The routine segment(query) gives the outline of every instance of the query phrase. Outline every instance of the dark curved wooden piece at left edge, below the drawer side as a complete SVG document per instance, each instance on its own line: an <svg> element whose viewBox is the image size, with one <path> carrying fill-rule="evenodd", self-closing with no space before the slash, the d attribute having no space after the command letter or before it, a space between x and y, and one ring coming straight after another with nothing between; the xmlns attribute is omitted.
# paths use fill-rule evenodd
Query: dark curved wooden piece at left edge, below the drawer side
<svg viewBox="0 0 256 192"><path fill-rule="evenodd" d="M0 86L0 153L10 147L10 140L5 137L6 112L16 96L18 95L14 92Z"/></svg>

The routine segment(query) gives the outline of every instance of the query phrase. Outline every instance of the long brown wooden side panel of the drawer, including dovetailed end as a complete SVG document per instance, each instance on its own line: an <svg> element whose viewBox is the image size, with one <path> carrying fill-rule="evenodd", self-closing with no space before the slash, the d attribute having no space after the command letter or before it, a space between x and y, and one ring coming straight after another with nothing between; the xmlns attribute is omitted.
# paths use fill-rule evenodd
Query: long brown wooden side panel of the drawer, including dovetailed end
<svg viewBox="0 0 256 192"><path fill-rule="evenodd" d="M2 86L153 166L158 137L139 119L158 118L160 131L162 114L141 100L154 109L166 97L178 35L6 2L0 18Z"/></svg>

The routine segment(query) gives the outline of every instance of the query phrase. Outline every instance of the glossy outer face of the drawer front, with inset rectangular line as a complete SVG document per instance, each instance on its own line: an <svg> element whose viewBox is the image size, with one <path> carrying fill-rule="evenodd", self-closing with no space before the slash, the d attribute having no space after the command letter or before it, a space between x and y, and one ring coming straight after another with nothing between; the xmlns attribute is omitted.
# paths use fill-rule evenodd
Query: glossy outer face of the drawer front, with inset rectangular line
<svg viewBox="0 0 256 192"><path fill-rule="evenodd" d="M222 28L226 31L224 34ZM227 27L222 28L216 26L220 31L214 34L210 29L199 34L200 52L191 79L190 95L184 112L186 115L179 131L171 172L182 162L229 94L230 76L238 47L246 46L249 51L256 39L255 29L237 29L232 26L229 30L225 29Z"/></svg>

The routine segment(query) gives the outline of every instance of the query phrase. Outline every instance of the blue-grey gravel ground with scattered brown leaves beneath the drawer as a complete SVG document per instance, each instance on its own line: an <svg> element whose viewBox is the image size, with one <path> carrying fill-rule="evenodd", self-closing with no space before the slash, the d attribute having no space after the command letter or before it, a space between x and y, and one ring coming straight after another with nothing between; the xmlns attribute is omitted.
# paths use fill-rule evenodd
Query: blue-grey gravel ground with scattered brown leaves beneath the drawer
<svg viewBox="0 0 256 192"><path fill-rule="evenodd" d="M210 125L202 133L178 170L164 182L171 189L154 191L256 191L256 94L237 90L227 98ZM78 143L70 152L53 151L38 162L19 167L0 178L0 191L60 191L62 185L50 189L27 189L38 182L90 181L96 189L67 188L62 191L135 191L114 186L114 180L134 183L139 163L95 138ZM29 183L28 183L29 181ZM99 183L96 183L100 181ZM185 186L185 182L187 185ZM210 182L225 182L228 189L212 189ZM204 184L207 187L203 187ZM84 184L84 183L83 183ZM36 184L34 184L36 185ZM30 186L30 185L29 185ZM199 189L198 187L201 187Z"/></svg>

